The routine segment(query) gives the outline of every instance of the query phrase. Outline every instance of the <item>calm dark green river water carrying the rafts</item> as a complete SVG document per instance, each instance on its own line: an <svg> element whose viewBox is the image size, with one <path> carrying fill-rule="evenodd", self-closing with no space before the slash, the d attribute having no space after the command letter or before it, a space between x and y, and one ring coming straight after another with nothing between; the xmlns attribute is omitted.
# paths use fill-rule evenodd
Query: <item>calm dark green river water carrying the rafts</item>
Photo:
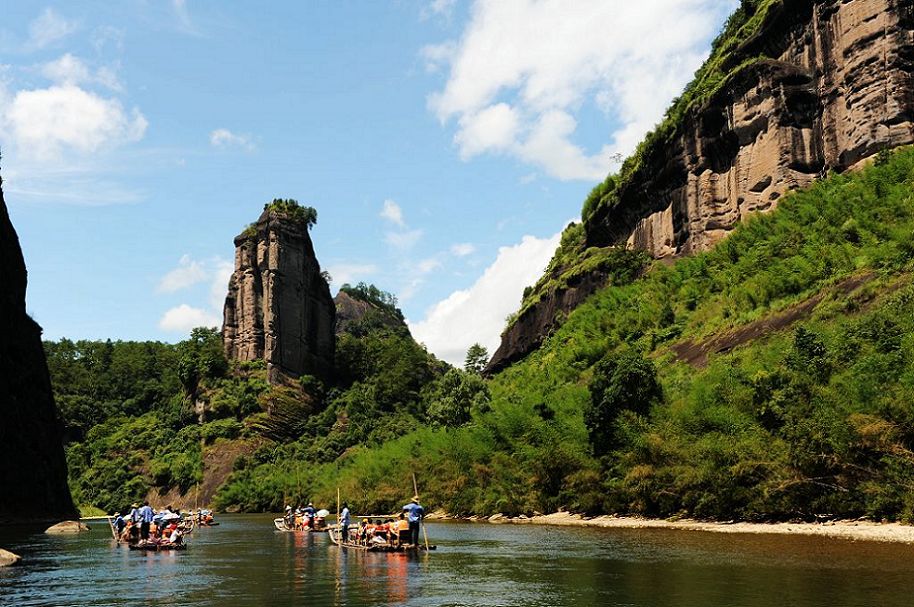
<svg viewBox="0 0 914 607"><path fill-rule="evenodd" d="M183 553L0 532L0 605L914 605L914 547L664 530L430 524L438 551L347 553L223 515Z"/></svg>

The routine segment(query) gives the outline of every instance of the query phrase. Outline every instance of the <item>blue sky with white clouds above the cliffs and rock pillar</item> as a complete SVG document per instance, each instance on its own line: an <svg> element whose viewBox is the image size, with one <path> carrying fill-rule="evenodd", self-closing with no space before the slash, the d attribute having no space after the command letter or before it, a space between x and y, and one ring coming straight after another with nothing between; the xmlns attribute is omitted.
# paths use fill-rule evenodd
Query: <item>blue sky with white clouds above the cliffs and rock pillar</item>
<svg viewBox="0 0 914 607"><path fill-rule="evenodd" d="M735 2L0 6L4 192L47 338L221 322L233 237L290 197L334 292L395 293L459 362Z"/></svg>

